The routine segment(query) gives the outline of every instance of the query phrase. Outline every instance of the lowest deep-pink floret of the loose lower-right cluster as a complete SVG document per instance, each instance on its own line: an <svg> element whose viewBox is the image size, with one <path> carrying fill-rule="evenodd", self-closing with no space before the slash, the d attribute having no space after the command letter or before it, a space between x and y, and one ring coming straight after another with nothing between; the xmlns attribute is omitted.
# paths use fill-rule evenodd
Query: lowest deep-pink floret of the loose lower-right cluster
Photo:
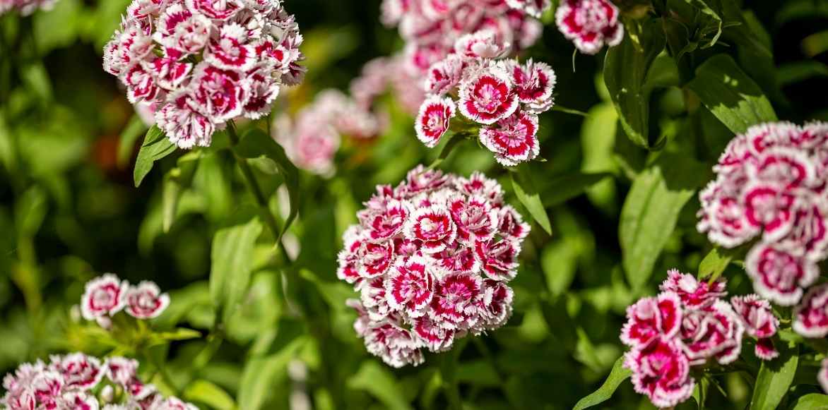
<svg viewBox="0 0 828 410"><path fill-rule="evenodd" d="M633 388L647 395L659 408L671 408L690 398L696 382L681 343L657 337L646 346L630 350L624 367L633 370Z"/></svg>

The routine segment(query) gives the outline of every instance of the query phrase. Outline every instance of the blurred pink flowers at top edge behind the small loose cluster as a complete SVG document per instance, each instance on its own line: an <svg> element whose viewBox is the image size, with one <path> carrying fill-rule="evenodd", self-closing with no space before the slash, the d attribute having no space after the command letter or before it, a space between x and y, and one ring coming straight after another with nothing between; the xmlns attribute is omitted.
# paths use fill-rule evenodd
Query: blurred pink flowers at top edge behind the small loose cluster
<svg viewBox="0 0 828 410"><path fill-rule="evenodd" d="M431 66L455 54L458 41L489 56L516 55L541 36L536 17L550 6L549 0L383 0L381 19L398 27L405 46L397 55L367 64L352 93L365 101L390 85L402 107L416 114L426 99L421 84ZM481 44L484 36L496 48Z"/></svg>

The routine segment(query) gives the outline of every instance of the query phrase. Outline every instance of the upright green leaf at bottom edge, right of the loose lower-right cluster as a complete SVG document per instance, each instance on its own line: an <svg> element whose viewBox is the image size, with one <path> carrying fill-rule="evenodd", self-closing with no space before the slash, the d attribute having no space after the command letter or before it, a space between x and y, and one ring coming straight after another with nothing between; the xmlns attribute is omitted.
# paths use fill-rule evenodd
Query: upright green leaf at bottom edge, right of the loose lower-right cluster
<svg viewBox="0 0 828 410"><path fill-rule="evenodd" d="M751 410L773 410L782 403L782 398L791 388L793 376L797 373L799 346L780 344L779 357L763 361L756 384L753 385Z"/></svg>

